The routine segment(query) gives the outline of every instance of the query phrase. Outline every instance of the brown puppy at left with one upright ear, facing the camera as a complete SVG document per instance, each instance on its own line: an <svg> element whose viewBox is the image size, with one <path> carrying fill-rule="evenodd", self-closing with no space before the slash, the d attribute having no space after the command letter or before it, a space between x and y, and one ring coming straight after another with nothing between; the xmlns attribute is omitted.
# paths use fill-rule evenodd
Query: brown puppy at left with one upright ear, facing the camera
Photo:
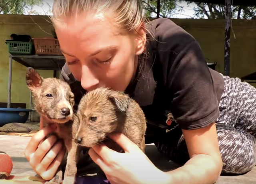
<svg viewBox="0 0 256 184"><path fill-rule="evenodd" d="M31 67L28 68L26 73L26 83L28 88L32 91L36 111L38 111L40 115L57 123L57 129L54 131L54 134L58 138L62 138L64 140L64 144L68 151L67 165L64 174L64 178L67 178L67 180L64 179L64 181L66 184L72 184L72 182L74 183L74 178L72 177L71 181L68 181L68 178L70 178L70 175L74 177L76 176L76 163L80 156L80 150L76 149L77 146L73 138L75 137L78 129L78 124L73 123L72 121L72 119L74 119L74 121L77 122L76 116L73 112L74 94L72 93L68 83L56 78L43 79L43 77L41 77L39 73ZM43 127L45 126L48 125L43 125ZM73 144L75 144L75 146ZM76 153L76 151L79 153ZM69 155L74 155L75 158L70 158ZM74 166L69 167L69 165ZM62 183L61 166L56 172L54 178L45 184L47 183Z"/></svg>

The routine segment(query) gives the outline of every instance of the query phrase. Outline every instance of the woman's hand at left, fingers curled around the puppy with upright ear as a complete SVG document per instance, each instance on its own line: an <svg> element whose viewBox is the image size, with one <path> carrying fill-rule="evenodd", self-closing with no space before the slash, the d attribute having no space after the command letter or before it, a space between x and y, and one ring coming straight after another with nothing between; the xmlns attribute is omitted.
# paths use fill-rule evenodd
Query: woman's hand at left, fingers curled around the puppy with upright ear
<svg viewBox="0 0 256 184"><path fill-rule="evenodd" d="M32 168L44 180L54 177L66 153L64 144L61 141L57 142L56 136L51 135L46 138L53 130L54 127L48 126L38 131L28 142L24 152Z"/></svg>

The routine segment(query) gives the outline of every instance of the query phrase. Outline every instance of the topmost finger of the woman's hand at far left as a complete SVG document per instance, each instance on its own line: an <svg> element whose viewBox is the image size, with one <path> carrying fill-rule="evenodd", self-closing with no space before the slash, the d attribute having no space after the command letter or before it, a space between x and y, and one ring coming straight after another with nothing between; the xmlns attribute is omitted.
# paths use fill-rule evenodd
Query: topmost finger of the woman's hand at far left
<svg viewBox="0 0 256 184"><path fill-rule="evenodd" d="M33 135L26 146L24 151L24 155L30 161L30 155L36 152L38 145L40 144L41 140L44 139L49 133L52 132L52 129L46 127L40 131L38 131L35 135Z"/></svg>

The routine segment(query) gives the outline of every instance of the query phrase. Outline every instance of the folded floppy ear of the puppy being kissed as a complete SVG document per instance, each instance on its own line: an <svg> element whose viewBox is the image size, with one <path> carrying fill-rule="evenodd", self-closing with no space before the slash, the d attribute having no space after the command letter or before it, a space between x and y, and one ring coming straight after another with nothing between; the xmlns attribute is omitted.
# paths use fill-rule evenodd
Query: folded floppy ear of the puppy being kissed
<svg viewBox="0 0 256 184"><path fill-rule="evenodd" d="M130 97L128 95L116 94L110 95L108 97L114 105L116 105L117 109L121 112L126 112L128 105L130 104Z"/></svg>

